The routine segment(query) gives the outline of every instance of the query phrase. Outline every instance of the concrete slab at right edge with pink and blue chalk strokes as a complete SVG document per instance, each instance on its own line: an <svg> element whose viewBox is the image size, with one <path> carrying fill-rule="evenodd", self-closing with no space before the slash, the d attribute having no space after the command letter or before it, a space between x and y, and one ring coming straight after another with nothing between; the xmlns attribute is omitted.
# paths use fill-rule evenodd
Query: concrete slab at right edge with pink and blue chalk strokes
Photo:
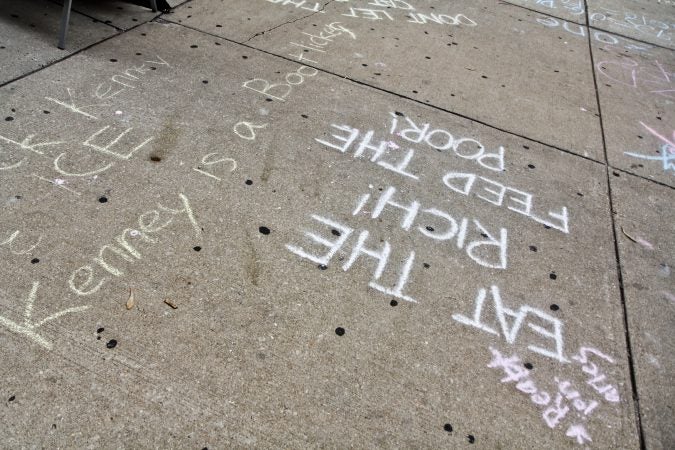
<svg viewBox="0 0 675 450"><path fill-rule="evenodd" d="M609 163L675 186L673 52L594 43L593 56Z"/></svg>

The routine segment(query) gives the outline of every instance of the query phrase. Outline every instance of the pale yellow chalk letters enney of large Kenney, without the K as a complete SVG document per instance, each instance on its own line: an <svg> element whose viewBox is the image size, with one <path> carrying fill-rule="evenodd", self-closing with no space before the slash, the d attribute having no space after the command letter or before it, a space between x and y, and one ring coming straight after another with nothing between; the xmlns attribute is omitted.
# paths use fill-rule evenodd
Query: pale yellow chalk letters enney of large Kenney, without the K
<svg viewBox="0 0 675 450"><path fill-rule="evenodd" d="M162 204L157 204L158 210L151 210L141 214L138 217L138 229L125 228L117 237L115 241L117 245L106 244L98 251L98 256L93 258L94 264L82 266L70 275L68 286L77 295L87 296L94 294L107 281L107 275L95 276L94 267L98 266L107 272L108 275L114 277L121 277L124 272L119 267L113 265L109 257L116 255L119 263L131 264L135 260L142 259L141 253L127 240L127 235L136 235L139 241L147 244L156 244L158 239L152 234L158 233L164 228L173 223L174 216L184 214L188 219L197 238L201 237L201 228L197 224L194 213L188 201L188 198L179 194L182 209L171 209ZM168 213L168 218L162 218L160 211ZM98 280L98 282L96 282Z"/></svg>

